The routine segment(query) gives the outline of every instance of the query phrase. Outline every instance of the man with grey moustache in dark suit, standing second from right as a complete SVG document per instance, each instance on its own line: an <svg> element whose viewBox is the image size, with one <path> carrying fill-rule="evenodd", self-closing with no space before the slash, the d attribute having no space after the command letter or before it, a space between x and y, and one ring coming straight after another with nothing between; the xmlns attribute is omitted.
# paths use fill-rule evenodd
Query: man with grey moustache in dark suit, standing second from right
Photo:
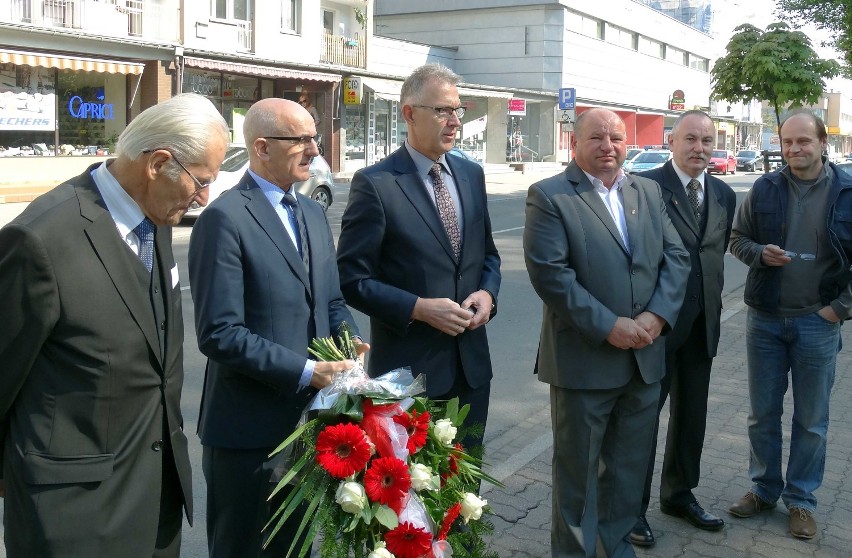
<svg viewBox="0 0 852 558"><path fill-rule="evenodd" d="M715 143L710 117L698 110L687 111L675 120L669 137L673 159L659 169L638 173L661 186L666 210L691 263L683 308L666 337L666 376L660 384L658 428L659 410L666 397L671 402L660 510L706 531L718 531L725 525L701 507L692 490L701 476L710 368L719 345L725 251L737 203L730 186L705 172ZM655 542L645 512L651 500L656 448L654 436L642 513L630 533L630 541L639 546Z"/></svg>

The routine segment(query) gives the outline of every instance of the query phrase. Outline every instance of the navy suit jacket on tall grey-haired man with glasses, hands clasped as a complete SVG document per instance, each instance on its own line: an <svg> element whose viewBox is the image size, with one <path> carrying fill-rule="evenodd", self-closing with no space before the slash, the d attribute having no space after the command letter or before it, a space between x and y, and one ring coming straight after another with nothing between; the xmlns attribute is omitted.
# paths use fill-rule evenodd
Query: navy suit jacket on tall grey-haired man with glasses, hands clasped
<svg viewBox="0 0 852 558"><path fill-rule="evenodd" d="M426 373L429 396L450 392L459 373L473 388L485 385L492 376L491 357L484 326L452 337L412 321L417 298L461 303L485 289L496 304L500 289L485 175L470 161L446 160L462 206L458 262L405 146L352 178L338 243L346 301L370 316L370 374L411 366L415 375Z"/></svg>

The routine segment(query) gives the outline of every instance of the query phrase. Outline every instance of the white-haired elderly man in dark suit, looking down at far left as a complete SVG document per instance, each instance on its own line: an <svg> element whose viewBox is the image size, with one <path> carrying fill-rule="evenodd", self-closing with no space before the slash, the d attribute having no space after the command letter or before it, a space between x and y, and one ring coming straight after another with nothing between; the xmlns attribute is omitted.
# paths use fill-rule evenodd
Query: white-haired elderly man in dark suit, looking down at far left
<svg viewBox="0 0 852 558"><path fill-rule="evenodd" d="M192 479L170 227L206 203L227 139L210 101L174 97L0 231L8 558L179 556Z"/></svg>

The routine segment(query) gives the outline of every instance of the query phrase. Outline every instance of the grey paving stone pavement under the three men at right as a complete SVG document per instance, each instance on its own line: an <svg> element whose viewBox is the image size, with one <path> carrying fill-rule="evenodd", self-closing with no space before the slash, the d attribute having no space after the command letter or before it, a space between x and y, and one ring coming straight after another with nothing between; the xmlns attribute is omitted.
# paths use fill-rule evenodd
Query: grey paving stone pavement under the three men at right
<svg viewBox="0 0 852 558"><path fill-rule="evenodd" d="M794 539L787 531L783 505L756 518L739 519L727 509L751 486L748 477L748 382L745 349L746 307L742 292L734 292L723 313L719 354L713 363L707 435L701 482L695 491L705 509L725 520L725 528L711 533L695 529L683 519L659 509L659 473L665 447L668 407L663 409L648 522L657 544L636 548L643 557L715 558L841 558L852 556L852 326L843 328L843 345L831 398L825 478L817 490L818 532L814 539ZM530 416L510 431L486 440L486 461L505 488L484 487L494 510L492 549L501 558L550 556L552 440L548 401L531 409ZM787 394L783 415L784 462L789 450L792 395ZM786 466L785 466L786 469ZM780 504L780 502L779 502Z"/></svg>

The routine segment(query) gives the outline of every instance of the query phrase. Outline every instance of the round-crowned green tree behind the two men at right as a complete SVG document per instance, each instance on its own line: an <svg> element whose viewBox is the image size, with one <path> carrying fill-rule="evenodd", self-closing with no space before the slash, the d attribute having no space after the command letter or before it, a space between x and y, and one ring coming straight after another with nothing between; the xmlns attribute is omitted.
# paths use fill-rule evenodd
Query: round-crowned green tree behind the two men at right
<svg viewBox="0 0 852 558"><path fill-rule="evenodd" d="M786 23L761 31L749 24L734 29L727 53L716 60L710 74L713 97L729 102L769 101L781 126L780 107L815 104L823 79L836 77L840 65L819 58L811 40Z"/></svg>

